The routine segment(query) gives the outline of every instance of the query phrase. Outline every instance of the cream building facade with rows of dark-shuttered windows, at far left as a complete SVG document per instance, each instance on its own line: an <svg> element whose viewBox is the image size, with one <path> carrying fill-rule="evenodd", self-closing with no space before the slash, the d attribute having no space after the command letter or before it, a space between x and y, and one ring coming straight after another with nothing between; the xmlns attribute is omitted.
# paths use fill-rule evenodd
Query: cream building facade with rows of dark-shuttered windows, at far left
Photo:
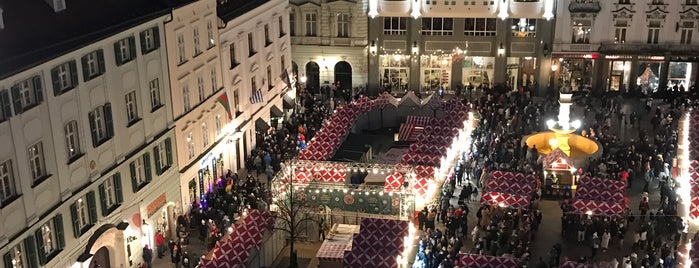
<svg viewBox="0 0 699 268"><path fill-rule="evenodd" d="M174 229L169 17L163 7L0 80L4 267L134 267L156 230Z"/></svg>

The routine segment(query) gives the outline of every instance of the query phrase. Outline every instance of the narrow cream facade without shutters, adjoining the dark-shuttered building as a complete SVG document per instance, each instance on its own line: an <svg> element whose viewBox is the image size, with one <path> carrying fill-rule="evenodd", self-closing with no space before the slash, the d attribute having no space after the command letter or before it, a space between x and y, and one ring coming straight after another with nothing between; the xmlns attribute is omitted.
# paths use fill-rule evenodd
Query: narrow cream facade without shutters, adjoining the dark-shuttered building
<svg viewBox="0 0 699 268"><path fill-rule="evenodd" d="M227 153L221 139L231 122L229 94L221 80L219 21L215 0L200 0L172 12L165 24L172 113L175 117L180 191L185 211L222 174ZM230 106L228 106L230 107Z"/></svg>

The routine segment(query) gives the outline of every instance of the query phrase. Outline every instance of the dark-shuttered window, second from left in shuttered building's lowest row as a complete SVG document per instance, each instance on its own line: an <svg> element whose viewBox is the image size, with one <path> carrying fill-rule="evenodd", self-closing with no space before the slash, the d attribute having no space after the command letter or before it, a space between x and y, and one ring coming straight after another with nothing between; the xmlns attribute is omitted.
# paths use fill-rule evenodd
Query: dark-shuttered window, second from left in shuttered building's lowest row
<svg viewBox="0 0 699 268"><path fill-rule="evenodd" d="M58 214L53 219L39 226L35 232L36 246L38 248L39 265L46 265L65 246L63 236L63 216ZM25 243L25 246L27 244ZM27 255L27 258L31 256ZM28 262L33 262L29 260Z"/></svg>

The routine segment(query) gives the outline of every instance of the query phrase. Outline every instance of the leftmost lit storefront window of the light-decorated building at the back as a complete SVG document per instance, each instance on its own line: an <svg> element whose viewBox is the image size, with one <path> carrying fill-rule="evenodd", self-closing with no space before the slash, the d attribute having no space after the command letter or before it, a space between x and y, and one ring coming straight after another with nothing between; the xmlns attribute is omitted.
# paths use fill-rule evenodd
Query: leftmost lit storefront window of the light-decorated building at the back
<svg viewBox="0 0 699 268"><path fill-rule="evenodd" d="M406 92L410 74L410 55L384 54L379 56L379 77L383 90Z"/></svg>

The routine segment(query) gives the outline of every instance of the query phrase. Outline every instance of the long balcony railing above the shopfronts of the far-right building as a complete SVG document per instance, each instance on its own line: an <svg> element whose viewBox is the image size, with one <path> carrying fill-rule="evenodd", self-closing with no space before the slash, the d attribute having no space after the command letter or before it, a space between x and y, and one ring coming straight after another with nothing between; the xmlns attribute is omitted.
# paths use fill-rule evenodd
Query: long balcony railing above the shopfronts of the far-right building
<svg viewBox="0 0 699 268"><path fill-rule="evenodd" d="M607 54L687 54L699 53L699 45L602 43L599 50L600 52Z"/></svg>

